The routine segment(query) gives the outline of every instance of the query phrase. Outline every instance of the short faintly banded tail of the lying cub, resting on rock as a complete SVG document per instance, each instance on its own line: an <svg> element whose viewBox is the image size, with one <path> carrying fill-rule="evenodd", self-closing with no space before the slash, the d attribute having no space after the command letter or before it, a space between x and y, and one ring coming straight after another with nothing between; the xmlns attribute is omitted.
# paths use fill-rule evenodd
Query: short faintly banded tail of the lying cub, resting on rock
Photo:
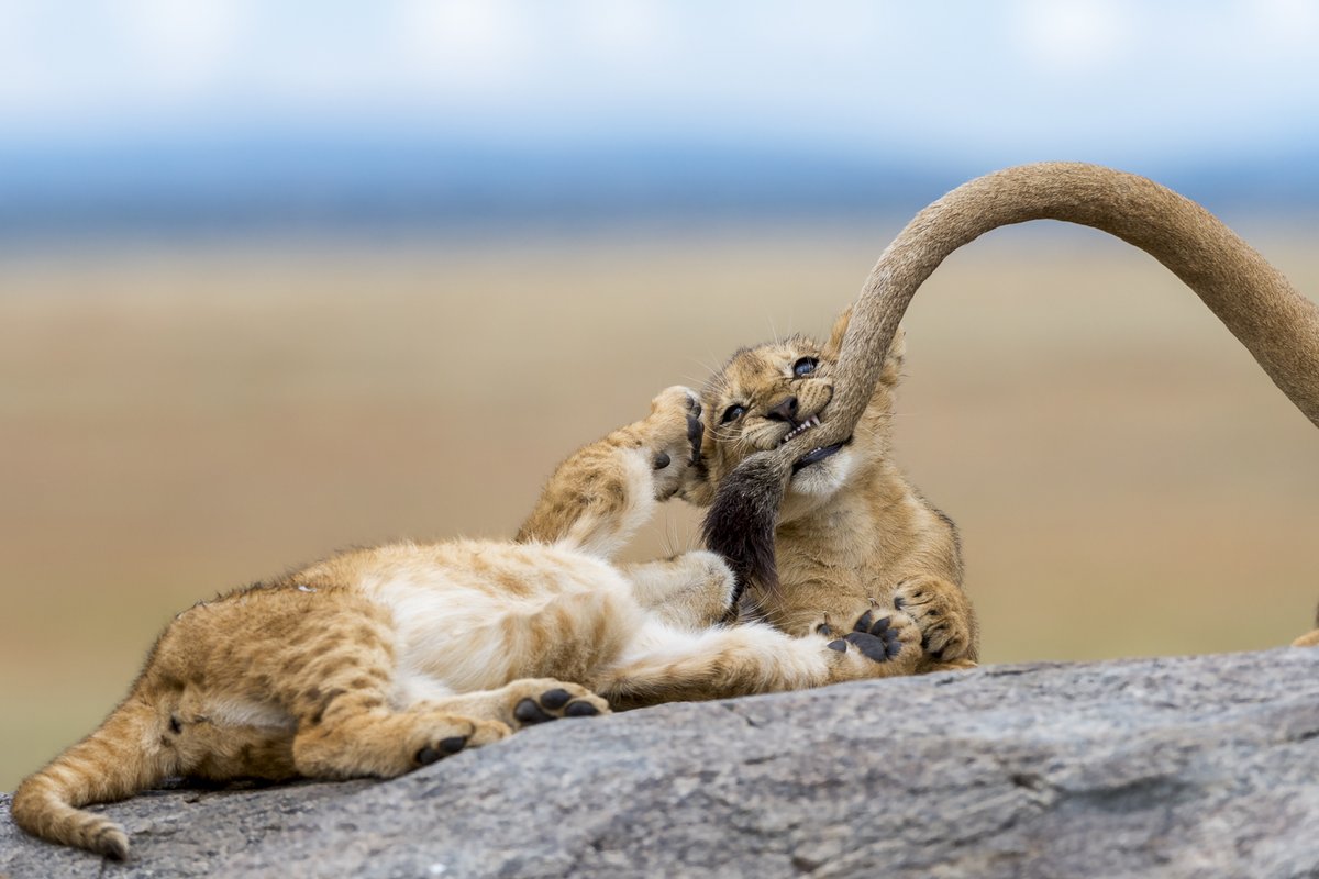
<svg viewBox="0 0 1319 879"><path fill-rule="evenodd" d="M15 824L49 842L127 858L124 829L79 807L121 800L169 775L158 723L157 712L129 697L95 733L22 780L9 807Z"/></svg>

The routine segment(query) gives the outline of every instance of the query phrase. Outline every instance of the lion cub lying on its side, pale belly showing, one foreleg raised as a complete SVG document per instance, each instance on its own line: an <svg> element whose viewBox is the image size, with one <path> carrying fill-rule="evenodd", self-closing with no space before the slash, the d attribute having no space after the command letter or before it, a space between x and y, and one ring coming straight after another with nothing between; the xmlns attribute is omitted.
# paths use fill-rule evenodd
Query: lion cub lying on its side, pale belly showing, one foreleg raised
<svg viewBox="0 0 1319 879"><path fill-rule="evenodd" d="M112 858L128 837L80 810L168 776L392 778L514 730L636 705L900 672L914 631L848 640L716 625L719 556L609 561L699 456L696 395L555 470L516 543L396 543L336 555L185 610L128 697L13 796L18 826Z"/></svg>

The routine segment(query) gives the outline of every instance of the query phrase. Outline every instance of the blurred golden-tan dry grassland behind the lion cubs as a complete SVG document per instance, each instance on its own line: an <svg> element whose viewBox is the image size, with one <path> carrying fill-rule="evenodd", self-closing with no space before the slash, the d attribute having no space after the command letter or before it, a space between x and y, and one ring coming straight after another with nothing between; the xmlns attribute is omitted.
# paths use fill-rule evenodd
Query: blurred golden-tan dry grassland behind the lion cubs
<svg viewBox="0 0 1319 879"><path fill-rule="evenodd" d="M896 227L861 232L0 262L0 789L195 598L347 544L510 534L660 387L827 328ZM1304 236L1256 242L1319 290ZM1153 261L1000 232L906 326L900 457L963 528L989 662L1308 627L1319 434Z"/></svg>

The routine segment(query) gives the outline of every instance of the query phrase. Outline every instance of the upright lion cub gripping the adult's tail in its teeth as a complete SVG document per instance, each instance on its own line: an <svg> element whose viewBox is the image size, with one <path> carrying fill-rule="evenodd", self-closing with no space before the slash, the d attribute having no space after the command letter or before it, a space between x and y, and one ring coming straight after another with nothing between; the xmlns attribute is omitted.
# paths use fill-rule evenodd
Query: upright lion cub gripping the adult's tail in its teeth
<svg viewBox="0 0 1319 879"><path fill-rule="evenodd" d="M839 318L827 343L803 336L744 348L707 383L707 430L683 496L702 505L764 494L764 474L735 468L757 452L810 431L834 398L838 354L851 319ZM907 619L923 647L917 672L969 668L979 652L976 617L962 590L962 551L952 521L930 505L893 464L889 424L901 377L904 339L896 336L869 405L849 438L797 460L772 535L749 532L766 517L716 505L706 543L724 552L745 585L743 619L764 619L805 635L859 617ZM729 478L731 477L731 478ZM743 480L744 484L736 484ZM757 559L756 555L769 555ZM764 573L776 569L777 581ZM898 613L901 611L901 613Z"/></svg>

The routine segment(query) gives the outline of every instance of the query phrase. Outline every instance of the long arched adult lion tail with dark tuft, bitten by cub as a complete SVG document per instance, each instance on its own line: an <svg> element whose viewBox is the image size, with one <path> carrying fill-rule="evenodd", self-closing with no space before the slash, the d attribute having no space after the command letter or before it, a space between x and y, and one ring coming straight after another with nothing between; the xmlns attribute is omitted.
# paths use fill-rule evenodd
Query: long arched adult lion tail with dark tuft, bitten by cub
<svg viewBox="0 0 1319 879"><path fill-rule="evenodd" d="M718 486L706 540L728 559L739 585L757 579L773 585L773 530L791 465L852 434L917 289L948 254L985 232L1043 219L1101 229L1162 262L1319 426L1319 306L1217 217L1153 181L1097 165L1042 162L996 171L921 211L884 250L852 306L823 423L747 459Z"/></svg>

